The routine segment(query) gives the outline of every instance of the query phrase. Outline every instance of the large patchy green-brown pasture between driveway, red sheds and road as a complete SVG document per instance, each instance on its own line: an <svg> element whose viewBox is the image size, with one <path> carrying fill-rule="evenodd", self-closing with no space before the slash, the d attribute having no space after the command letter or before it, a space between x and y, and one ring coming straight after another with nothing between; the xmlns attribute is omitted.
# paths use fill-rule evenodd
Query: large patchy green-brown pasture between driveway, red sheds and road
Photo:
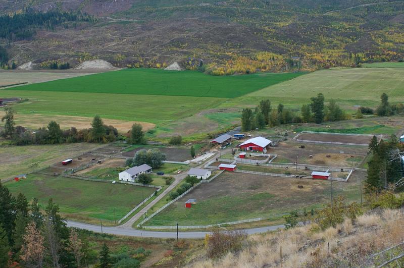
<svg viewBox="0 0 404 268"><path fill-rule="evenodd" d="M333 182L334 196L360 200L360 178L354 172L348 183ZM298 189L297 185L303 185ZM331 183L322 180L270 177L242 173L223 173L210 183L174 202L144 226L196 226L269 217L279 220L294 209L319 208L330 202ZM196 204L185 208L185 201Z"/></svg>

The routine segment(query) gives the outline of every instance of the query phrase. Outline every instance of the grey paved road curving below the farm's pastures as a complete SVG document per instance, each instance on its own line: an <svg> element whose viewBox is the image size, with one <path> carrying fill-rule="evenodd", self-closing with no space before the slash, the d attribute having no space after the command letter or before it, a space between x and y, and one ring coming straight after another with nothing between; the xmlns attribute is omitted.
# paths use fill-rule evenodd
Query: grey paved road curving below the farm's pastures
<svg viewBox="0 0 404 268"><path fill-rule="evenodd" d="M85 229L88 231L93 231L96 233L101 233L101 226L78 223L73 221L67 221L68 227L74 227L79 229ZM244 229L245 233L248 235L252 234L260 234L268 231L275 231L280 228L284 228L284 225L275 225L275 226L266 226L252 229ZM132 237L151 237L151 238L177 238L176 232L156 232L156 231L143 231L136 229L127 229L121 227L104 227L103 233L111 234L111 235L123 235L123 236L132 236ZM210 232L179 232L179 238L205 238L205 235L210 234Z"/></svg>

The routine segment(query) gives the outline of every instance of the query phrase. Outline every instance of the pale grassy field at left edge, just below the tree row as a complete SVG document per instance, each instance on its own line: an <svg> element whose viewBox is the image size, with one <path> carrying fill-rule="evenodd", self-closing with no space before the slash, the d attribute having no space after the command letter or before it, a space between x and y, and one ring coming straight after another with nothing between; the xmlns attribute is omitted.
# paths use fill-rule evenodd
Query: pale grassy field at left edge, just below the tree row
<svg viewBox="0 0 404 268"><path fill-rule="evenodd" d="M95 143L0 146L0 179L43 169L99 146Z"/></svg>

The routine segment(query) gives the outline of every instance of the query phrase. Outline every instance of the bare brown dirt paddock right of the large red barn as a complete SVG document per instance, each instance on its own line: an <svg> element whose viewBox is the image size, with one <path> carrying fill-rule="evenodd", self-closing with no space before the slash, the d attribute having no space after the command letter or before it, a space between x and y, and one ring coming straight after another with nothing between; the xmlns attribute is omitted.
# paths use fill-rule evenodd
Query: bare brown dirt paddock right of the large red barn
<svg viewBox="0 0 404 268"><path fill-rule="evenodd" d="M280 142L276 147L271 147L269 153L278 155L273 163L295 163L297 156L299 164L358 167L368 154L368 147L365 146L304 143L305 148L299 148L299 145L302 143L287 140ZM310 155L313 158L310 158ZM327 155L331 157L327 157Z"/></svg>

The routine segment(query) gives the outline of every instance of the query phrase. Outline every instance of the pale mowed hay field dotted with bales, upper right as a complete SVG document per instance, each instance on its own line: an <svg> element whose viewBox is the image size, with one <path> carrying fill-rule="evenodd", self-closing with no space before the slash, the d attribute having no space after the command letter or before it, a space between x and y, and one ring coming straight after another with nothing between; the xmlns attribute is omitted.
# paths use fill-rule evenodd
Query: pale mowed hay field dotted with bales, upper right
<svg viewBox="0 0 404 268"><path fill-rule="evenodd" d="M345 107L352 108L354 105L378 105L383 92L388 94L391 102L402 101L404 68L322 70L269 86L245 97L267 96L276 103L301 106L302 103L309 103L310 97L323 93L326 101L334 98Z"/></svg>

